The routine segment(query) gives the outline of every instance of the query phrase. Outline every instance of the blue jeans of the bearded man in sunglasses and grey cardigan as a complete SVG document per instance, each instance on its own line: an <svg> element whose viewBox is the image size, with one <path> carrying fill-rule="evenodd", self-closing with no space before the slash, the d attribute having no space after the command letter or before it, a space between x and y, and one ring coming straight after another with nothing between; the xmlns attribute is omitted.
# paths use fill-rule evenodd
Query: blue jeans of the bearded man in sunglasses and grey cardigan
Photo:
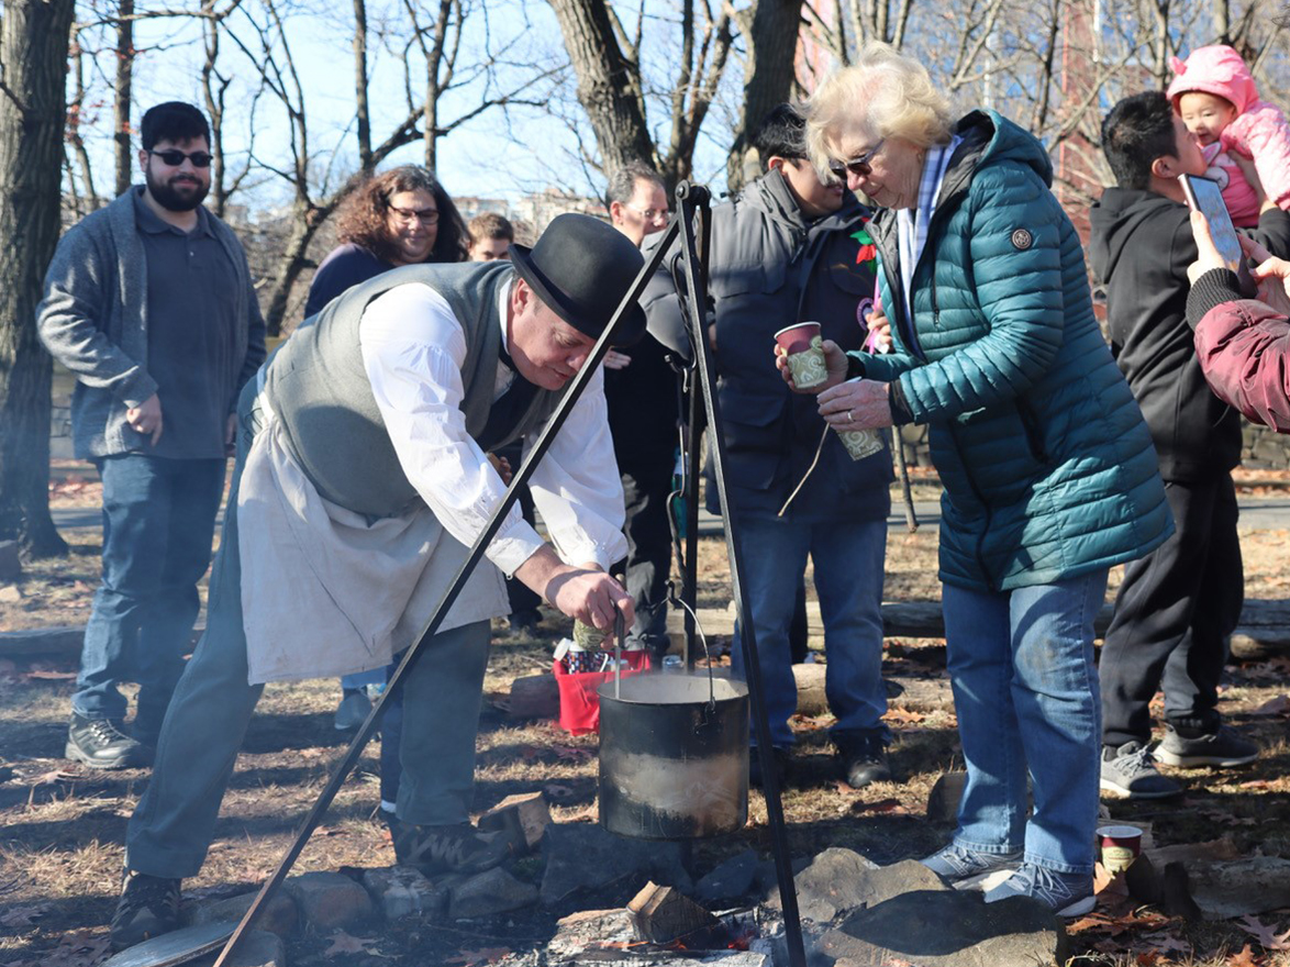
<svg viewBox="0 0 1290 967"><path fill-rule="evenodd" d="M197 619L224 460L123 454L95 463L103 480L103 580L85 628L72 709L121 719L117 682L138 682L135 732L151 740Z"/></svg>

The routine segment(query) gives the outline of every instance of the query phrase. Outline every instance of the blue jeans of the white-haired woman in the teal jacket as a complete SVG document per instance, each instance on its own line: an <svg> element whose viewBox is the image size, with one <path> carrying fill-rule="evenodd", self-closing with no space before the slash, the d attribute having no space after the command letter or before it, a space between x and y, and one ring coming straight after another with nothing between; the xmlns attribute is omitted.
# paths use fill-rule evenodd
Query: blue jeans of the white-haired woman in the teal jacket
<svg viewBox="0 0 1290 967"><path fill-rule="evenodd" d="M1093 619L1107 571L983 594L946 584L949 679L968 785L955 842L1093 872L1102 705ZM1026 774L1035 812L1026 819Z"/></svg>

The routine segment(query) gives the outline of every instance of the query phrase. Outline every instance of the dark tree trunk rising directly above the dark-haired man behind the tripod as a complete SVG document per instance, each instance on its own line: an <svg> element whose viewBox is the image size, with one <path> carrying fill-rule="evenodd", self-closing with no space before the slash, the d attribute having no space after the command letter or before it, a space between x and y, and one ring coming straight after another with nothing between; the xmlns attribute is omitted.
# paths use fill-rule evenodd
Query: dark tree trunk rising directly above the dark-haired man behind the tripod
<svg viewBox="0 0 1290 967"><path fill-rule="evenodd" d="M752 135L768 113L793 92L793 62L801 30L802 0L759 0L747 37L743 115L726 160L730 191L744 183L744 161Z"/></svg>

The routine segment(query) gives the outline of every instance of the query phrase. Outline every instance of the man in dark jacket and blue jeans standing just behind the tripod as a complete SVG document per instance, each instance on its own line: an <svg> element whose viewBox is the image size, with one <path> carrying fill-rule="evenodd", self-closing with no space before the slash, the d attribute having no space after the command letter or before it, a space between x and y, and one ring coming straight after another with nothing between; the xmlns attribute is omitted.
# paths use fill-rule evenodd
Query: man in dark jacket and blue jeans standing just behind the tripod
<svg viewBox="0 0 1290 967"><path fill-rule="evenodd" d="M775 108L756 138L766 173L712 210L717 393L777 759L787 762L793 741L789 624L809 554L824 623L826 691L837 717L832 737L842 775L862 786L891 775L878 610L891 458L884 450L851 460L814 398L788 391L773 351L775 331L800 321L818 321L826 339L858 349L873 304L875 250L868 211L841 184L820 182L802 133L791 106ZM675 295L646 299L651 330L675 311ZM708 503L720 511L713 487ZM743 674L738 647L734 665Z"/></svg>

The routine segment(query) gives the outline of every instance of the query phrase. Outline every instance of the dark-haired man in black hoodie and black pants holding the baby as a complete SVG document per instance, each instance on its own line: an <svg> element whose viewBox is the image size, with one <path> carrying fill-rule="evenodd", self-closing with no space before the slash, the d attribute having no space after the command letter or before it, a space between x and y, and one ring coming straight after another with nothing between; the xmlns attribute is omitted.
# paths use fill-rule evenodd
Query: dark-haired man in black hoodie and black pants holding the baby
<svg viewBox="0 0 1290 967"><path fill-rule="evenodd" d="M1093 206L1091 262L1107 291L1111 349L1142 406L1160 456L1175 532L1129 563L1102 650L1102 788L1130 798L1175 796L1155 759L1236 766L1258 748L1223 727L1218 682L1241 614L1244 576L1232 468L1240 415L1205 384L1187 325L1187 267L1196 258L1180 174L1205 159L1169 99L1125 98L1103 121L1118 187ZM1264 206L1258 236L1290 250L1290 215ZM1165 692L1155 756L1149 704Z"/></svg>

